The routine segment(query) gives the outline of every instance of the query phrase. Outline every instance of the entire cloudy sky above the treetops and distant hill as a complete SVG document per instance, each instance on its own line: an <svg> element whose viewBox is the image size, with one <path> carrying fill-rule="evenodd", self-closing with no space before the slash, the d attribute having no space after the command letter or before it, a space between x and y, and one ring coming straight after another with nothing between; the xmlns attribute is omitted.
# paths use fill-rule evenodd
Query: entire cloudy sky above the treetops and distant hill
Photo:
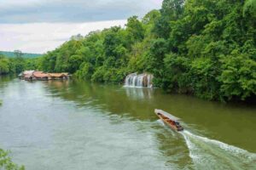
<svg viewBox="0 0 256 170"><path fill-rule="evenodd" d="M77 34L125 26L162 0L0 0L0 51L43 54Z"/></svg>

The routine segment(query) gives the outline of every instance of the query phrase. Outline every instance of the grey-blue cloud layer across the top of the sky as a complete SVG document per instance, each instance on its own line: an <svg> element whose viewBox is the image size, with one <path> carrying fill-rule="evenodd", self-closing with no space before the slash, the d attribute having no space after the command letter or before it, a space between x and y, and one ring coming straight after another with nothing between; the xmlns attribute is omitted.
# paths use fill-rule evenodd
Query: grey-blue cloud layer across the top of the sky
<svg viewBox="0 0 256 170"><path fill-rule="evenodd" d="M0 0L0 23L88 22L143 17L162 0Z"/></svg>

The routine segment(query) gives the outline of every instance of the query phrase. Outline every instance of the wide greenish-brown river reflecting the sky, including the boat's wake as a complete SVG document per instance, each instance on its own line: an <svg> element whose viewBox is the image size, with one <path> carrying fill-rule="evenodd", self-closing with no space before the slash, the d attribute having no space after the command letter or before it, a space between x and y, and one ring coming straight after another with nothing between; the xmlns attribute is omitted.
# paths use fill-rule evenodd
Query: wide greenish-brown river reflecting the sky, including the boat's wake
<svg viewBox="0 0 256 170"><path fill-rule="evenodd" d="M160 89L0 77L0 148L28 170L256 169L256 107ZM182 133L154 109L182 118Z"/></svg>

